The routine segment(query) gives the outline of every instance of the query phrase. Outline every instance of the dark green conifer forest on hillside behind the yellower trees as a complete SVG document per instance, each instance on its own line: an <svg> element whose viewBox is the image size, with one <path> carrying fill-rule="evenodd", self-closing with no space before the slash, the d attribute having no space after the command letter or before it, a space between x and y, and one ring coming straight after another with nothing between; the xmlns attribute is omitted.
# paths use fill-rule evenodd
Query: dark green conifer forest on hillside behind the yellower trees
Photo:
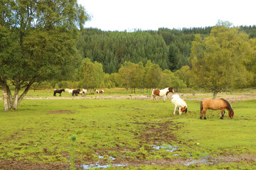
<svg viewBox="0 0 256 170"><path fill-rule="evenodd" d="M159 64L161 69L175 71L188 64L192 41L196 34L207 37L212 27L183 28L182 30L159 28L157 31L137 30L132 33L102 31L87 28L82 31L78 49L82 57L103 65L105 73L117 72L124 62L142 62L148 60ZM240 26L240 30L256 37L255 26Z"/></svg>

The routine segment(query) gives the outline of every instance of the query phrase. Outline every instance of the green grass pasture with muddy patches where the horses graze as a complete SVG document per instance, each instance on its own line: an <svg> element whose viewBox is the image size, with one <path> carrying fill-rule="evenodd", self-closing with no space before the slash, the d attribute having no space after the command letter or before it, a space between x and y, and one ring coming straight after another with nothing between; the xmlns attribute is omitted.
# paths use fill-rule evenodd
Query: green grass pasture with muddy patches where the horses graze
<svg viewBox="0 0 256 170"><path fill-rule="evenodd" d="M51 93L30 91L28 97ZM220 111L209 110L208 119L201 120L200 101L186 102L188 113L173 115L170 100L153 103L131 99L24 99L18 111L8 112L3 112L1 100L0 162L68 164L70 137L75 135L77 165L100 162L127 165L114 169L256 168L256 162L242 159L220 164L186 164L188 159L205 157L218 159L244 154L256 157L256 100L232 103L233 120L227 111L221 120ZM185 163L164 164L170 160Z"/></svg>

